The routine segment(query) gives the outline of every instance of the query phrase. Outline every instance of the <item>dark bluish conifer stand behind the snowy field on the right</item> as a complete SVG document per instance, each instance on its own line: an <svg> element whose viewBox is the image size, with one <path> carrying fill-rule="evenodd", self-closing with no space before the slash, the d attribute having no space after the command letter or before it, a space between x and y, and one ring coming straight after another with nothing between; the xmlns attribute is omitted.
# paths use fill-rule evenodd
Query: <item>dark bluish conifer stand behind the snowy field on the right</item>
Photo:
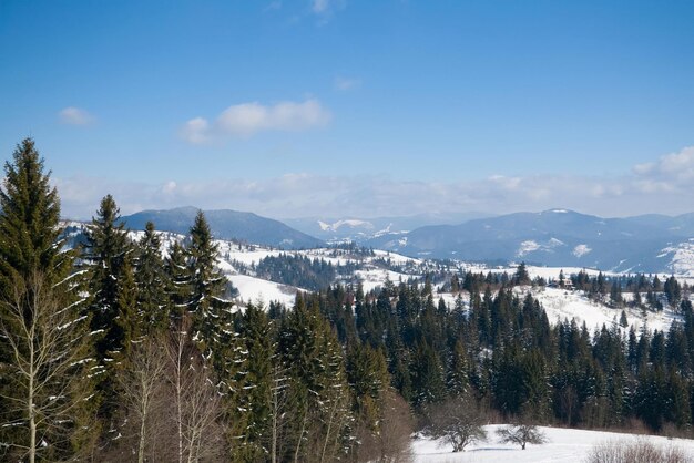
<svg viewBox="0 0 694 463"><path fill-rule="evenodd" d="M450 308L417 284L367 296L331 288L316 298L344 342L357 339L386 353L394 385L418 411L471 391L508 418L532 414L591 428L641 420L655 431L691 426L688 299L678 306L682 321L666 332L625 331L618 323L589 330L574 320L551 326L532 296L512 291L512 281L496 291L496 280L482 292L473 286L469 306L460 298ZM347 301L341 308L340 292Z"/></svg>

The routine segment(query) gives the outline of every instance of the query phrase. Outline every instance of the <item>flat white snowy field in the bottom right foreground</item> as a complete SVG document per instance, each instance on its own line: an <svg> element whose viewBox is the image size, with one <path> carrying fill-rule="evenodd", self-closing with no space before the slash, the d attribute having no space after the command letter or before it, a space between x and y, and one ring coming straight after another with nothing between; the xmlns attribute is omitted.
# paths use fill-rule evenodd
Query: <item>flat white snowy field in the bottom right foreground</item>
<svg viewBox="0 0 694 463"><path fill-rule="evenodd" d="M452 453L450 445L439 446L438 441L417 439L412 442L414 460L416 463L581 463L585 461L595 444L606 442L634 443L645 439L656 446L669 447L674 445L686 453L690 457L688 461L694 461L693 440L539 428L544 432L549 442L543 445L528 444L525 450L521 450L518 445L498 443L496 430L500 428L499 425L492 424L484 428L489 441L470 445L461 453Z"/></svg>

